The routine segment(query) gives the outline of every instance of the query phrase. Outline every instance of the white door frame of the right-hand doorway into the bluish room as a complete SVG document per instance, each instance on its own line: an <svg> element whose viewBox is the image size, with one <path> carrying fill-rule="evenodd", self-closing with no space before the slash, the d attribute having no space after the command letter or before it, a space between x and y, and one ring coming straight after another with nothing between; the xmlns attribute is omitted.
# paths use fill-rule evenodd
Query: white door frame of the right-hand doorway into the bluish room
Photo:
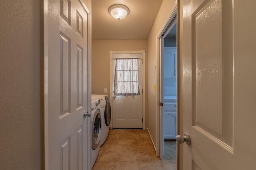
<svg viewBox="0 0 256 170"><path fill-rule="evenodd" d="M160 158L163 156L162 155L162 150L163 147L162 146L162 142L163 142L163 114L162 114L162 110L163 108L160 106L160 103L164 103L163 101L163 82L162 82L162 78L163 77L163 70L162 70L162 41L163 38L162 35L164 35L165 31L168 29L168 26L170 25L170 23L172 22L172 20L174 19L175 16L177 16L177 130L176 130L176 134L180 134L181 128L182 127L182 122L180 120L182 120L180 117L182 117L182 115L180 115L179 112L179 105L178 103L179 101L179 77L178 77L178 72L179 72L179 9L178 9L178 3L177 0L174 3L174 6L172 7L172 9L170 10L170 13L166 19L166 21L164 22L164 24L162 25L160 31L158 32L157 36L156 36L156 48L157 48L157 57L156 57L156 82L158 82L158 84L156 85L156 156L159 156ZM180 158L180 146L176 145L176 153L177 153L177 169L179 169L179 158Z"/></svg>

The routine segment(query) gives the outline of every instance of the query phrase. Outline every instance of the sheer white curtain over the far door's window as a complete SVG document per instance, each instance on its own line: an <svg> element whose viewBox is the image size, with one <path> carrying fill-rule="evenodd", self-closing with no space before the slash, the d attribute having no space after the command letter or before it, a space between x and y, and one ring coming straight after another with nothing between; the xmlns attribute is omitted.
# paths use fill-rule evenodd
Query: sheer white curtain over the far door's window
<svg viewBox="0 0 256 170"><path fill-rule="evenodd" d="M114 95L140 95L138 59L116 59Z"/></svg>

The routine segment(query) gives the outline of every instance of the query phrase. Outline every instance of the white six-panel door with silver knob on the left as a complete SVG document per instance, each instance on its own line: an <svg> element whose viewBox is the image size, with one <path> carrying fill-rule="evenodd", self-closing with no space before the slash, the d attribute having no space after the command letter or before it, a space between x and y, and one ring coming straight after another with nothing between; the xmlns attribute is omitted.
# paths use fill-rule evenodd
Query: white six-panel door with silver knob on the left
<svg viewBox="0 0 256 170"><path fill-rule="evenodd" d="M90 118L83 116L91 98L89 12L82 0L48 0L46 9L46 169L89 169Z"/></svg>

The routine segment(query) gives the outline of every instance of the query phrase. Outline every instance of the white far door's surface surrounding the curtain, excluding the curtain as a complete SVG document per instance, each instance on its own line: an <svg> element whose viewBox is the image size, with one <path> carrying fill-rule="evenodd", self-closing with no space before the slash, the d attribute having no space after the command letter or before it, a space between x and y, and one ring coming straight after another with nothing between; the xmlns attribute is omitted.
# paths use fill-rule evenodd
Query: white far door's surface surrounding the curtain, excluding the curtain
<svg viewBox="0 0 256 170"><path fill-rule="evenodd" d="M113 128L140 128L142 129L142 53L140 54L112 54L112 59L138 58L138 76L140 95L115 96L114 75L116 60L112 60L112 117Z"/></svg>

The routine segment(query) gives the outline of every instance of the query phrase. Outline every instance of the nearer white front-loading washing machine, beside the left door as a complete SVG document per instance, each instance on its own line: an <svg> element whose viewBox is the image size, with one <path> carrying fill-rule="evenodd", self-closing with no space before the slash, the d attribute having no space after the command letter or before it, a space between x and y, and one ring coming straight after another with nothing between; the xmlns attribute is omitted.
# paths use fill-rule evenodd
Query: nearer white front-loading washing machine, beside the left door
<svg viewBox="0 0 256 170"><path fill-rule="evenodd" d="M100 114L100 100L92 100L92 155L91 155L91 168L94 165L99 150L100 150L100 137L101 137L101 114Z"/></svg>

